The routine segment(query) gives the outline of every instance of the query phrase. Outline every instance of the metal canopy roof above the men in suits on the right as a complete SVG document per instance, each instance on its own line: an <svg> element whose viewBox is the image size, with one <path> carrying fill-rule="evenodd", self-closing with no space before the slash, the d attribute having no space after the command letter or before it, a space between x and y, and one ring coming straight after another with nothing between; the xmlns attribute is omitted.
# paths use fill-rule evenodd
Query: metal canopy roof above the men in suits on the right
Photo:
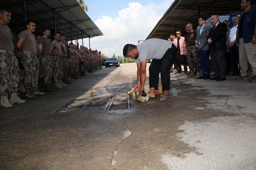
<svg viewBox="0 0 256 170"><path fill-rule="evenodd" d="M241 0L175 0L146 39L168 39L176 30L184 35L187 23L198 26L198 16L240 13L240 3Z"/></svg>

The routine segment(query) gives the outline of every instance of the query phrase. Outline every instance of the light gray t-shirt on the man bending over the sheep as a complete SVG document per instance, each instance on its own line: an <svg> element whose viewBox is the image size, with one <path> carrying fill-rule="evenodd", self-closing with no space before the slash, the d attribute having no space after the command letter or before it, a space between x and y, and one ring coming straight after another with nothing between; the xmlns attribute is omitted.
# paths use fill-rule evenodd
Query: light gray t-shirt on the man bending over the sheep
<svg viewBox="0 0 256 170"><path fill-rule="evenodd" d="M142 62L144 59L162 59L165 52L172 48L172 41L164 39L147 39L137 45L139 57L136 63Z"/></svg>

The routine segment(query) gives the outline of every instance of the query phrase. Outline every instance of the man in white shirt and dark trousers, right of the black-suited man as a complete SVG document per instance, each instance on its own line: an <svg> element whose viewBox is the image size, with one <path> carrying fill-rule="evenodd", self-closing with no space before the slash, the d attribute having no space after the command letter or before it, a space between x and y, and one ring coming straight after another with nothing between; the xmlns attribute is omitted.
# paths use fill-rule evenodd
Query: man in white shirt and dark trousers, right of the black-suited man
<svg viewBox="0 0 256 170"><path fill-rule="evenodd" d="M238 16L232 17L232 23L234 24L234 27L231 28L229 38L228 38L228 46L230 47L230 55L231 55L231 65L233 68L233 73L230 76L238 76L238 59L239 59L239 53L238 53L238 47L236 46L236 31L238 27Z"/></svg>

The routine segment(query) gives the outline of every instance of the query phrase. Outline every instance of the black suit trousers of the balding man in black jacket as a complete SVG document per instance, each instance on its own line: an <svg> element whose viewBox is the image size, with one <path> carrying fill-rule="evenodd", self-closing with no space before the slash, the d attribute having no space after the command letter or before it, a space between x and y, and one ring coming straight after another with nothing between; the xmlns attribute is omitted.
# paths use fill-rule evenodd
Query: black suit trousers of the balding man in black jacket
<svg viewBox="0 0 256 170"><path fill-rule="evenodd" d="M214 77L226 77L226 57L225 50L210 49L210 57L214 68Z"/></svg>

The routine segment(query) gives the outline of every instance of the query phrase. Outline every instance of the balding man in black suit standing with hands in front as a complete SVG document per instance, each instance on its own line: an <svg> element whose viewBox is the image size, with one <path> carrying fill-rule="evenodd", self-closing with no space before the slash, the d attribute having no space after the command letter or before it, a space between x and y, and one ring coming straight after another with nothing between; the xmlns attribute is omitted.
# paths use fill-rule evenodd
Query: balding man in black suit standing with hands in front
<svg viewBox="0 0 256 170"><path fill-rule="evenodd" d="M213 27L207 35L207 41L210 44L210 56L214 68L214 77L210 80L226 80L226 33L227 25L221 23L218 15L211 17Z"/></svg>

